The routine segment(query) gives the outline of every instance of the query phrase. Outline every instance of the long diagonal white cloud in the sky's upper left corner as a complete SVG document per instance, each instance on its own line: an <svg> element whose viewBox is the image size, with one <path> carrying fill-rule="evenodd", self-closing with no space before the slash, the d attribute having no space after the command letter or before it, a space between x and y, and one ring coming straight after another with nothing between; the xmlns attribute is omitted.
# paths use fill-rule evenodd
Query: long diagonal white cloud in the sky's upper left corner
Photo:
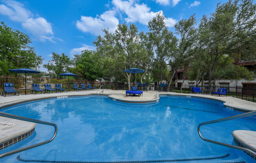
<svg viewBox="0 0 256 163"><path fill-rule="evenodd" d="M0 14L9 16L13 21L20 22L22 27L29 33L33 34L38 40L55 42L59 40L53 36L51 23L45 18L33 18L33 14L24 8L24 5L15 0L5 0L4 4L0 5ZM61 40L61 39L60 39Z"/></svg>

